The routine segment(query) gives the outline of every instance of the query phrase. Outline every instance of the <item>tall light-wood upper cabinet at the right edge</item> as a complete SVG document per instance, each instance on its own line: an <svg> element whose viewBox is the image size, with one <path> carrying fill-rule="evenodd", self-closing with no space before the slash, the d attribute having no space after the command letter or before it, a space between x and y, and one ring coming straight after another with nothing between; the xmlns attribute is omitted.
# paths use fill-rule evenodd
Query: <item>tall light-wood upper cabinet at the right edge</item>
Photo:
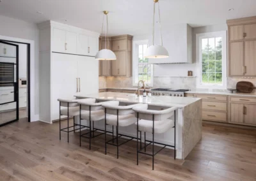
<svg viewBox="0 0 256 181"><path fill-rule="evenodd" d="M256 76L256 17L227 20L228 76Z"/></svg>

